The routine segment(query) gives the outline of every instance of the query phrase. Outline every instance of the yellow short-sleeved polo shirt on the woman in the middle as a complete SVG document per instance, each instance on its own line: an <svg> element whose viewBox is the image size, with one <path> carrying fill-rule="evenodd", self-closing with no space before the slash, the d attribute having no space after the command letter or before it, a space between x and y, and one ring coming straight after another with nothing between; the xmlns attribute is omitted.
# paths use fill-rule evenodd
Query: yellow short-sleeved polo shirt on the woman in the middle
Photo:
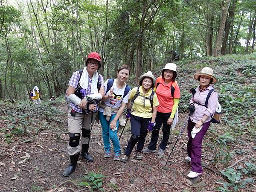
<svg viewBox="0 0 256 192"><path fill-rule="evenodd" d="M131 90L129 99L134 98L134 96L135 96L135 94L137 92L137 88L138 87L134 87ZM140 117L143 117L143 118L151 118L152 117L152 113L150 113L150 112L152 111L152 108L151 108L150 100L149 99L145 99L145 107L144 107L144 97L142 97L142 96L145 96L145 97L149 98L151 93L152 93L152 90L150 89L148 91L148 93L146 93L144 95L143 94L142 86L140 86L139 92L140 92L140 94L134 100L134 104L132 106L131 114L133 114L134 116L140 116ZM140 96L140 95L142 95L142 96ZM154 96L153 96L153 107L156 107L158 105L159 105L159 103L158 103L158 99L157 99L157 94L155 93Z"/></svg>

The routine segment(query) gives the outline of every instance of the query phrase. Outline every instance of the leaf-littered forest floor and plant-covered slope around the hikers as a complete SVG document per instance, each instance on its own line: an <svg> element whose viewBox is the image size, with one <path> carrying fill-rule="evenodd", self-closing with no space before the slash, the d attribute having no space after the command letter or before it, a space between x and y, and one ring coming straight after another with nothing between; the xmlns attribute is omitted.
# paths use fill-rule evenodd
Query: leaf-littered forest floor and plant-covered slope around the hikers
<svg viewBox="0 0 256 192"><path fill-rule="evenodd" d="M143 160L136 160L134 148L127 163L114 161L113 151L110 158L105 158L101 126L95 122L90 140L90 154L94 161L88 162L85 167L86 163L79 158L76 170L70 177L62 176L69 164L67 104L64 99L57 99L55 102L43 100L42 105L33 105L29 102L12 105L8 102L0 102L0 192L89 191L90 187L79 186L82 181L93 185L84 177L87 172L90 172L90 177L93 173L107 176L102 178L102 188L109 192L256 191L255 100L252 100L255 99L255 56L253 59L247 57L242 60L242 67L246 69L251 67L254 71L250 74L245 74L244 69L241 69L241 65L237 63L231 66L234 60L238 61L237 58L221 58L217 61L207 58L203 61L179 63L178 69L181 72L178 73L180 77L177 80L180 89L184 90L182 91L184 101L180 102L179 123L170 134L168 147L163 156L144 154ZM183 65L184 63L186 65ZM188 114L186 108L190 97L187 90L197 85L192 76L209 63L212 64L214 71L217 71L219 79L227 82L225 85L221 83L215 86L220 97L224 97L222 102L221 99L219 100L225 109L221 124L211 124L204 137L202 149L204 174L196 183L192 183L194 181L186 177L190 171L190 164L184 163L188 140L186 128L169 161L167 158L186 122ZM189 70L189 67L192 70ZM234 79L233 76L240 78L240 73L246 75L242 78L250 90L244 91L251 93L251 97L244 96L243 101L243 105L248 105L243 106L244 111L249 112L242 111L242 116L234 118L240 115L234 110L239 107L233 106L233 103L237 104L240 93L233 94L232 91L236 89L234 87L239 85L232 85L229 78ZM159 75L159 72L155 75ZM191 77L188 79L188 76ZM226 87L225 91L222 90L223 86ZM228 96L233 96L233 100ZM224 104L226 100L230 102L229 107L232 105L230 109ZM231 113L232 111L236 114ZM27 135L24 134L24 128ZM122 151L130 135L128 122L120 140ZM151 133L147 135L145 146L149 143L150 137ZM160 131L159 140L161 137ZM95 183L99 184L100 181Z"/></svg>

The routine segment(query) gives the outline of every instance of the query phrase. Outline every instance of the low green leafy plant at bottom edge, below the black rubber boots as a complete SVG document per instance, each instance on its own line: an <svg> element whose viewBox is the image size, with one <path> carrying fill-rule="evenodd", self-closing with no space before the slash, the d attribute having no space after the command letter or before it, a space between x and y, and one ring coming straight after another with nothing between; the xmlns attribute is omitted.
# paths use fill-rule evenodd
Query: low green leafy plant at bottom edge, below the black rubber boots
<svg viewBox="0 0 256 192"><path fill-rule="evenodd" d="M105 175L102 175L99 173L95 172L87 172L87 175L84 175L84 179L86 181L82 181L79 183L80 186L87 186L91 192L94 190L99 190L99 191L105 191L104 188L102 188L102 178L107 177Z"/></svg>

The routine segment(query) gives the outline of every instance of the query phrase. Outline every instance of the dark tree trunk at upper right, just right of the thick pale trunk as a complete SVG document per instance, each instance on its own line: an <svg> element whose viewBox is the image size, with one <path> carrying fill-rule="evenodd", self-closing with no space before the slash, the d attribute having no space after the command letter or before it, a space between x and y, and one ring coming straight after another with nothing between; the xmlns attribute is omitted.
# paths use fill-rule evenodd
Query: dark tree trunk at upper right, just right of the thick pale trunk
<svg viewBox="0 0 256 192"><path fill-rule="evenodd" d="M228 35L230 32L230 25L231 25L231 23L233 23L234 18L235 18L234 15L235 15L236 2L237 2L237 0L232 0L232 5L230 6L230 10L229 10L228 17L226 20L224 38L223 38L222 46L221 46L221 54L222 55L226 54L226 47L227 47Z"/></svg>

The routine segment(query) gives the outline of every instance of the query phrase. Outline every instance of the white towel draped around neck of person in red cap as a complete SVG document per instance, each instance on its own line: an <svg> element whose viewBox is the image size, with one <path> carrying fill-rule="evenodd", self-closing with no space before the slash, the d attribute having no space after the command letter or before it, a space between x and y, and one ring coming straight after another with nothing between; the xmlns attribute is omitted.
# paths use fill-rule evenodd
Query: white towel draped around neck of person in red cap
<svg viewBox="0 0 256 192"><path fill-rule="evenodd" d="M98 79L99 79L99 73L95 71L92 78L91 94L98 93L98 88L97 88ZM79 84L83 89L87 90L88 82L89 82L89 74L87 72L87 67L84 67Z"/></svg>

